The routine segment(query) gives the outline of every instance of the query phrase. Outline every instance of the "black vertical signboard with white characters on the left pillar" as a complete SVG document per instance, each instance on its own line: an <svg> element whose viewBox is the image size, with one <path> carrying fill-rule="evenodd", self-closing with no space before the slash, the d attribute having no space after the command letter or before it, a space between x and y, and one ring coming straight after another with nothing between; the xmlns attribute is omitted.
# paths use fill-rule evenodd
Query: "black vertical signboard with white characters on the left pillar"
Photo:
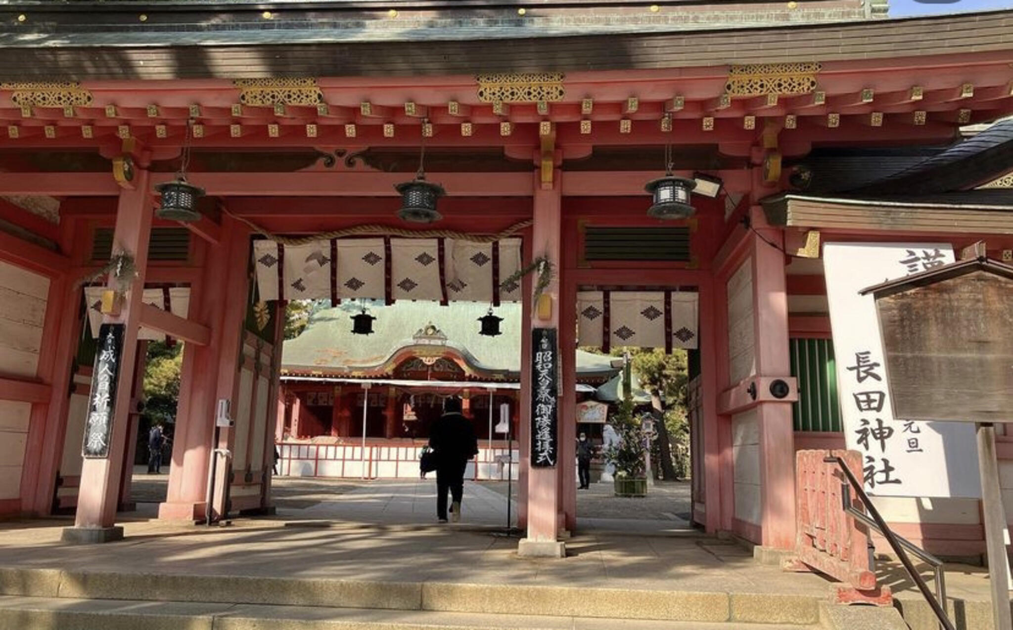
<svg viewBox="0 0 1013 630"><path fill-rule="evenodd" d="M88 397L88 417L84 424L84 457L104 459L109 456L109 438L116 410L116 382L123 357L124 325L102 324L98 330L98 349Z"/></svg>

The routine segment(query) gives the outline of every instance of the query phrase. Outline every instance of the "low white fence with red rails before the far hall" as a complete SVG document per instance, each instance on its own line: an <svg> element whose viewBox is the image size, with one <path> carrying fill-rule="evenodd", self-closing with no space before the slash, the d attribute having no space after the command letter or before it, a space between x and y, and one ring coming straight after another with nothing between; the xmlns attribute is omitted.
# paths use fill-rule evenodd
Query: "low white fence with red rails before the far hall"
<svg viewBox="0 0 1013 630"><path fill-rule="evenodd" d="M504 443L505 444L505 443ZM348 477L361 479L397 479L418 477L418 457L422 446L325 445L287 442L278 445L281 458L278 473L291 477ZM506 479L513 455L513 478L520 469L518 450L481 446L475 459L468 462L465 479ZM365 470L366 474L363 474Z"/></svg>

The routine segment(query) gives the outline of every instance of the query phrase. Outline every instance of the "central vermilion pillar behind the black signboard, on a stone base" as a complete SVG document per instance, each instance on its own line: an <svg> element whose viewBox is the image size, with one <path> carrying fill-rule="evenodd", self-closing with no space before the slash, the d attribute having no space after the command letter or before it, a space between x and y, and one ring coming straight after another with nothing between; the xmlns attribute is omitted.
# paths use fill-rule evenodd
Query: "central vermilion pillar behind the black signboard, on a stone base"
<svg viewBox="0 0 1013 630"><path fill-rule="evenodd" d="M552 279L545 289L544 295L551 300L551 312L539 314L532 317L531 329L534 328L557 328L559 327L560 310L560 249L562 245L562 216L561 216L561 171L556 170L552 178L552 187L542 187L541 181L536 179L534 194L534 226L532 229L531 248L535 257L545 256L552 264ZM536 271L537 273L537 271ZM537 305L536 305L537 309ZM547 316L546 316L547 315ZM531 331L526 330L525 335L530 337ZM527 409L531 408L531 346L525 348L521 358L521 371L528 375L528 387L523 390L524 397L521 404ZM558 350L558 348L557 348ZM565 361L565 359L563 359ZM523 384L522 384L523 387ZM557 400L557 406L561 407L561 401ZM559 423L563 422L559 417ZM528 420L530 423L530 411ZM529 436L531 427L525 427ZM560 440L557 430L556 439ZM527 448L530 448L527 447ZM562 449L559 450L560 455ZM530 460L529 460L530 463ZM558 478L560 468L570 470L565 462L557 461L551 468L531 466L528 468L528 537L521 540L518 553L525 556L548 556L562 557L565 549L562 542L557 540L559 532L559 489Z"/></svg>

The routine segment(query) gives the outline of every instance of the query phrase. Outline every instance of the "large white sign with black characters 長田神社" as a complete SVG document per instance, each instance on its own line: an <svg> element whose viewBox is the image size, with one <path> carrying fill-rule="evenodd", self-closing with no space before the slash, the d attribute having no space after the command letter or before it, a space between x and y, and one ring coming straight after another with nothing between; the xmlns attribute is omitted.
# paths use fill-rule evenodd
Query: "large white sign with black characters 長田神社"
<svg viewBox="0 0 1013 630"><path fill-rule="evenodd" d="M875 301L858 293L949 262L947 243L824 246L845 443L862 454L869 494L981 496L973 425L893 418Z"/></svg>

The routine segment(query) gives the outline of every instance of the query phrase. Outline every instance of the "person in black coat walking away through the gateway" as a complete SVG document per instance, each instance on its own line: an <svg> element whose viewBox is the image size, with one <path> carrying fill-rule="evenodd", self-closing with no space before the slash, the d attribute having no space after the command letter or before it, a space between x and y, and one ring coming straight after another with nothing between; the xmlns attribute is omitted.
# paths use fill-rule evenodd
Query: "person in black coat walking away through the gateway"
<svg viewBox="0 0 1013 630"><path fill-rule="evenodd" d="M461 413L461 399L452 396L444 401L444 414L430 429L430 448L437 458L437 518L447 523L447 490L454 499L451 515L461 520L464 494L464 469L478 454L478 439L471 420Z"/></svg>

